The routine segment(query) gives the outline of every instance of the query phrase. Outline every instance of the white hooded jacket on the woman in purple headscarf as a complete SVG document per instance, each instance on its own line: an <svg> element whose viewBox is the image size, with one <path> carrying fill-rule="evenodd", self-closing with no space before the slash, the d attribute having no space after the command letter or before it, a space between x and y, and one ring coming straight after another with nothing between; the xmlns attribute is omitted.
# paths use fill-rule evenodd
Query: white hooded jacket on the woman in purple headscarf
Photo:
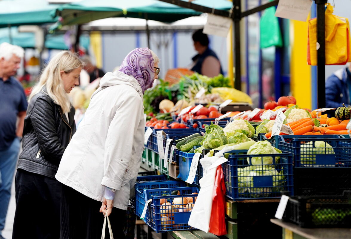
<svg viewBox="0 0 351 239"><path fill-rule="evenodd" d="M143 93L137 80L108 72L62 156L56 179L102 201L116 189L113 206L126 210L144 149Z"/></svg>

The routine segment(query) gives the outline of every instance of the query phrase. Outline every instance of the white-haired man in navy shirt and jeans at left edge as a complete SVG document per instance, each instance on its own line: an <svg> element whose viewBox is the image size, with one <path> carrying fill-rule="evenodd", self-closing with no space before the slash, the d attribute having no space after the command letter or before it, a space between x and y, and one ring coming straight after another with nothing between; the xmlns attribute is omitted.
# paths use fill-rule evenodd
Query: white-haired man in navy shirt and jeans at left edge
<svg viewBox="0 0 351 239"><path fill-rule="evenodd" d="M0 44L0 239L28 105L22 85L14 78L23 56L21 47Z"/></svg>

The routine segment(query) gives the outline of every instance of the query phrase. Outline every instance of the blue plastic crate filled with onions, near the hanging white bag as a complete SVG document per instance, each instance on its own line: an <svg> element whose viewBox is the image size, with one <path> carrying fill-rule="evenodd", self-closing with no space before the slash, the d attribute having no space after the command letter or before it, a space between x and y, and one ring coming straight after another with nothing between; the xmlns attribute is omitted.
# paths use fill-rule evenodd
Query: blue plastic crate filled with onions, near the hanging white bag
<svg viewBox="0 0 351 239"><path fill-rule="evenodd" d="M179 190L180 195L171 195L173 190ZM174 198L192 197L193 201L195 196L192 193L198 193L199 189L197 187L181 187L181 188L163 188L163 189L146 189L144 190L144 197L146 200L152 198L148 206L145 221L155 232L166 232L166 231L180 231L180 230L191 230L195 229L190 227L187 223L191 211L188 209L183 209L183 212L179 212L178 209L170 209L171 217L163 217L165 211L168 209L160 205L160 199L166 199L168 202L172 202ZM193 205L193 204L192 204ZM186 207L186 204L180 205ZM192 207L191 207L192 208ZM184 212L187 211L187 212ZM163 213L165 212L165 213ZM163 220L161 222L161 219Z"/></svg>

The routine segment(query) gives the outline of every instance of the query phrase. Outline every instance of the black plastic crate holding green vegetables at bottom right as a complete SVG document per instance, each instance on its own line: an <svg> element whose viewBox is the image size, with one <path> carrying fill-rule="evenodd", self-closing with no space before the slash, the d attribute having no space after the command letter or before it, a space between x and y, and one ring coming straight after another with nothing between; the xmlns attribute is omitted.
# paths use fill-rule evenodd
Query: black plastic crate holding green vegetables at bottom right
<svg viewBox="0 0 351 239"><path fill-rule="evenodd" d="M292 197L283 219L300 227L351 227L351 200L347 197Z"/></svg>

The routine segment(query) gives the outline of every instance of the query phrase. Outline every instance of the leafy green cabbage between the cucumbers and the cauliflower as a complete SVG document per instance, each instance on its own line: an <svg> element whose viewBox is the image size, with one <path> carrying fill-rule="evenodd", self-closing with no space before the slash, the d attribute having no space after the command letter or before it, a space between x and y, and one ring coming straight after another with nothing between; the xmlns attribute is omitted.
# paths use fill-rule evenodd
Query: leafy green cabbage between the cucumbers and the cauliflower
<svg viewBox="0 0 351 239"><path fill-rule="evenodd" d="M219 146L228 143L228 139L223 132L223 128L211 123L211 125L206 125L206 133L204 135L204 140L202 146L205 149L215 149Z"/></svg>

